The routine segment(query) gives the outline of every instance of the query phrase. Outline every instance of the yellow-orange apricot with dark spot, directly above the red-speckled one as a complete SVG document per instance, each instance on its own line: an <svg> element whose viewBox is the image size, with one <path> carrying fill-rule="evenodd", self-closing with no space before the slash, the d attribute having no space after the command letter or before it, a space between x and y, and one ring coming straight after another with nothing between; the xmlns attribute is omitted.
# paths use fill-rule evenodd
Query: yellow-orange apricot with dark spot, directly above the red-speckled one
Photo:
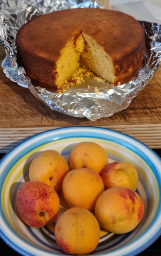
<svg viewBox="0 0 161 256"><path fill-rule="evenodd" d="M68 172L68 163L59 152L45 150L33 158L29 166L29 180L45 182L58 192Z"/></svg>

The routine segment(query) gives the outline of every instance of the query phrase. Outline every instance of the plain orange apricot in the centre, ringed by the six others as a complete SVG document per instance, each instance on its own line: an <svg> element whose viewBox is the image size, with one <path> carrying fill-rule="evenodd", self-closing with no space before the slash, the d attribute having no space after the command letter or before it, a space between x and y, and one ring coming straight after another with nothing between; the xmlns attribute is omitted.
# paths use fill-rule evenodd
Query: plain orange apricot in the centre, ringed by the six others
<svg viewBox="0 0 161 256"><path fill-rule="evenodd" d="M101 176L92 169L71 170L63 180L62 192L69 207L94 210L96 200L104 192Z"/></svg>

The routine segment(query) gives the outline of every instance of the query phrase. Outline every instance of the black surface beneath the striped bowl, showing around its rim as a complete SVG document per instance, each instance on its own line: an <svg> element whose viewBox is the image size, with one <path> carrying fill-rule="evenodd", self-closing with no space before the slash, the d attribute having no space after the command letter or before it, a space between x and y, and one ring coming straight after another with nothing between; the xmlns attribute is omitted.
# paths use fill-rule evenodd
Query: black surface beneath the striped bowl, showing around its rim
<svg viewBox="0 0 161 256"><path fill-rule="evenodd" d="M155 151L161 158L161 149L154 149L153 151ZM5 154L0 154L0 159L4 155ZM150 256L161 256L161 236L153 244L149 245L147 249L137 255L147 256L147 254L150 254ZM0 239L0 255L20 256L21 254L18 254L18 252L12 250L10 246L8 246L2 239Z"/></svg>

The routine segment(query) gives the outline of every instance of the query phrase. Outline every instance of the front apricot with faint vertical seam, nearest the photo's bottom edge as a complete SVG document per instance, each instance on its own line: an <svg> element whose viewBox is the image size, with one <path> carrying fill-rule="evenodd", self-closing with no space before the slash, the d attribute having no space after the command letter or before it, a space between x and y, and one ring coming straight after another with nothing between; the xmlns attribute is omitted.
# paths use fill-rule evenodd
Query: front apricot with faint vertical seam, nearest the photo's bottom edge
<svg viewBox="0 0 161 256"><path fill-rule="evenodd" d="M67 254L87 255L98 245L100 226L86 209L75 207L64 212L55 226L55 239Z"/></svg>

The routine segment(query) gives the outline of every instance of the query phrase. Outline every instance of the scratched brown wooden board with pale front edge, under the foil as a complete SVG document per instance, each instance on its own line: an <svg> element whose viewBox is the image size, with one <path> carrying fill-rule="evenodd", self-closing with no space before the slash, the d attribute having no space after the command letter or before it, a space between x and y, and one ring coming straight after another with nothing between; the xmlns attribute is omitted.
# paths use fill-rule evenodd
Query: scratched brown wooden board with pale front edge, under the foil
<svg viewBox="0 0 161 256"><path fill-rule="evenodd" d="M0 45L0 64L5 56ZM161 66L128 108L96 121L51 110L27 88L7 78L0 68L0 152L8 152L28 136L65 126L109 128L133 136L151 148L161 148Z"/></svg>

